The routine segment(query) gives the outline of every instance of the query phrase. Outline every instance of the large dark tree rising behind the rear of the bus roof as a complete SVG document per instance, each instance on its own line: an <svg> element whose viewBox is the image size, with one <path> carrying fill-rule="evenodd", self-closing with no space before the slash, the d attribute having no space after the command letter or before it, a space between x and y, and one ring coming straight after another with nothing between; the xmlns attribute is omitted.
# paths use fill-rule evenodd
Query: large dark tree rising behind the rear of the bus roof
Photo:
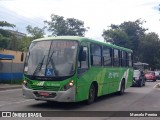
<svg viewBox="0 0 160 120"><path fill-rule="evenodd" d="M102 36L107 42L112 41L113 44L132 49L137 60L140 40L147 30L143 28L144 22L138 19L133 22L123 22L120 25L111 24L110 29L104 30Z"/></svg>

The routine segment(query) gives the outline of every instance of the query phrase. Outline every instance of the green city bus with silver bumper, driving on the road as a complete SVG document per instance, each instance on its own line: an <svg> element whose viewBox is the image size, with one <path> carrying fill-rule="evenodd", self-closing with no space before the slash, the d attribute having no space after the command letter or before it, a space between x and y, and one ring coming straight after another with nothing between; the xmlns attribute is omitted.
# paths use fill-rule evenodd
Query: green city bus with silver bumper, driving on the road
<svg viewBox="0 0 160 120"><path fill-rule="evenodd" d="M132 85L132 50L85 37L34 40L24 65L25 98L88 104Z"/></svg>

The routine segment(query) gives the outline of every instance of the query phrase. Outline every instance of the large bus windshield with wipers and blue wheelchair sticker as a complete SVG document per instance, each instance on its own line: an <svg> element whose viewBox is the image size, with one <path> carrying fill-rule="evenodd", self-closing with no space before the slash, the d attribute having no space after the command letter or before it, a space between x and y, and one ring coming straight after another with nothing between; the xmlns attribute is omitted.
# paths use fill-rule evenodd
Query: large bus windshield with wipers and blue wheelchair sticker
<svg viewBox="0 0 160 120"><path fill-rule="evenodd" d="M27 53L24 74L32 76L71 76L75 71L76 41L35 41Z"/></svg>

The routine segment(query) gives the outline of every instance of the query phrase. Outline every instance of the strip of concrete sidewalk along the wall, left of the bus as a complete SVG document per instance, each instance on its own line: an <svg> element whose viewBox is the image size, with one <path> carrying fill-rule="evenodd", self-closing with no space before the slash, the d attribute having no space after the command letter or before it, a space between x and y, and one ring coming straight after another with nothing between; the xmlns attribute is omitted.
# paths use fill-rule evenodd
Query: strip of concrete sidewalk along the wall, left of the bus
<svg viewBox="0 0 160 120"><path fill-rule="evenodd" d="M0 91L8 90L8 89L18 89L22 88L22 85L15 85L15 84L0 84Z"/></svg>

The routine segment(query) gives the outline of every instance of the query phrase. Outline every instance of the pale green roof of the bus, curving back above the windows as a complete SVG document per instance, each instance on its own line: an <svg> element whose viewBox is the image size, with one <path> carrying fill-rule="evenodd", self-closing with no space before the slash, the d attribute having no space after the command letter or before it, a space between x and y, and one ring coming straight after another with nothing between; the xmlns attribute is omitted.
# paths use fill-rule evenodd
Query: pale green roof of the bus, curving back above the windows
<svg viewBox="0 0 160 120"><path fill-rule="evenodd" d="M46 38L40 38L40 39L36 39L33 40L34 41L43 41L43 40L77 40L77 41L89 41L92 43L97 43L97 44L101 44L101 45L106 45L112 48L117 48L120 50L124 50L124 51L128 51L128 52L133 52L131 49L128 48L124 48L124 47L120 47L111 43L105 43L105 42L100 42L91 38L87 38L87 37L79 37L79 36L56 36L56 37L46 37Z"/></svg>

